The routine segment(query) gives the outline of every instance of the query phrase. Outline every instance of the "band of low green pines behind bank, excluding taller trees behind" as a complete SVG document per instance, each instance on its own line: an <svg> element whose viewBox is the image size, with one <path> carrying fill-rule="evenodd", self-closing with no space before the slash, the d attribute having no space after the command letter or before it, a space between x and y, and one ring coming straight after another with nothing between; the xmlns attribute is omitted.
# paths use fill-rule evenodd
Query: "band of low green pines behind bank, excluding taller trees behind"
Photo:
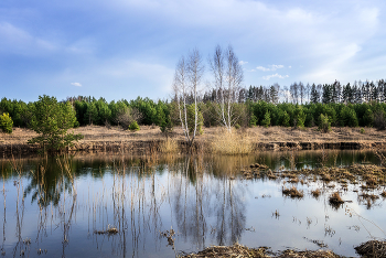
<svg viewBox="0 0 386 258"><path fill-rule="evenodd" d="M31 128L33 115L39 101L25 104L21 100L2 98L1 114L11 118L14 127ZM175 101L158 100L138 97L133 100L121 99L107 103L104 98L68 97L60 108L74 114L72 127L97 125L120 126L128 129L132 121L139 125L154 125L161 129L181 126L179 107ZM194 119L194 104L186 104L187 118ZM313 127L320 125L320 115L326 116L332 126L336 127L376 127L384 129L386 103L369 101L362 104L351 103L275 103L267 100L249 100L232 104L233 110L238 114L236 127L253 126L282 126L282 127ZM218 119L219 105L205 100L197 103L200 114L199 126L223 126ZM1 116L0 116L1 117ZM191 121L193 125L193 121Z"/></svg>

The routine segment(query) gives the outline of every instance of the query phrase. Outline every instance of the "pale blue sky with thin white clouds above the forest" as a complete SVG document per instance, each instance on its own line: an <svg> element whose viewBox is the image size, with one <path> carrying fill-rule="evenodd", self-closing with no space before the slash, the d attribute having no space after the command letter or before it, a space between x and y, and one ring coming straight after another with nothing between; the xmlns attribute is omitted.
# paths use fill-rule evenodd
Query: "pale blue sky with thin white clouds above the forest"
<svg viewBox="0 0 386 258"><path fill-rule="evenodd" d="M1 0L0 98L168 99L180 57L197 49L206 64L217 44L245 87L377 80L385 12L385 0Z"/></svg>

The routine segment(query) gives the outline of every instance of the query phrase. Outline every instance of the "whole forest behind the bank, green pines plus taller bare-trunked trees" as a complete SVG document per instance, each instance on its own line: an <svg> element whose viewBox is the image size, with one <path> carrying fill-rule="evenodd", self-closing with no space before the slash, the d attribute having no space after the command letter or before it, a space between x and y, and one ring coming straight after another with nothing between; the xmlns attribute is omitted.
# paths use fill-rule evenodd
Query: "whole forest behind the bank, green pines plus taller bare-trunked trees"
<svg viewBox="0 0 386 258"><path fill-rule="evenodd" d="M196 100L201 125L205 127L221 126L216 109L221 105L216 99L218 93L206 90ZM242 87L235 93L236 101L232 103L233 126L281 126L314 127L326 118L334 127L386 127L386 85L384 79L358 82L351 85L333 84L315 85L293 83L290 87L274 84L268 87ZM179 106L175 99L154 101L149 98L106 101L105 98L77 96L58 101L63 108L69 105L76 117L73 127L98 125L120 126L129 129L136 121L138 125L156 125L165 130L179 122ZM31 128L31 119L35 103L24 103L3 97L0 101L0 127L6 132L7 125ZM193 98L186 97L186 105L195 105ZM322 115L322 116L321 116ZM189 114L187 114L189 116ZM192 114L194 116L194 114ZM10 121L11 120L11 121ZM12 122L12 123L11 123Z"/></svg>

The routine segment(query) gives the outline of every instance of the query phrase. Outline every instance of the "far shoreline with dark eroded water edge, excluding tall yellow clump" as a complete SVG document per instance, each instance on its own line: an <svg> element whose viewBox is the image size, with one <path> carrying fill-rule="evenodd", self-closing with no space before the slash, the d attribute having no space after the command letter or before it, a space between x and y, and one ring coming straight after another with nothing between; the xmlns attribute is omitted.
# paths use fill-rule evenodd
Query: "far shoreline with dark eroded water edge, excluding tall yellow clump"
<svg viewBox="0 0 386 258"><path fill-rule="evenodd" d="M195 150L210 151L211 142L223 133L222 128L204 128L204 133L194 141ZM160 151L160 146L167 140L158 127L142 126L138 132L124 131L118 127L106 128L87 126L68 130L84 135L84 139L68 148L79 152L125 152L132 154L150 154ZM322 133L318 128L283 128L255 127L236 130L251 144L251 154L258 151L287 150L366 150L386 149L386 131L366 128L365 133L360 128L332 128L331 132ZM26 155L37 152L37 147L28 144L28 139L36 133L24 128L14 128L13 133L0 132L0 157ZM170 139L176 141L180 149L186 149L181 128L174 128Z"/></svg>

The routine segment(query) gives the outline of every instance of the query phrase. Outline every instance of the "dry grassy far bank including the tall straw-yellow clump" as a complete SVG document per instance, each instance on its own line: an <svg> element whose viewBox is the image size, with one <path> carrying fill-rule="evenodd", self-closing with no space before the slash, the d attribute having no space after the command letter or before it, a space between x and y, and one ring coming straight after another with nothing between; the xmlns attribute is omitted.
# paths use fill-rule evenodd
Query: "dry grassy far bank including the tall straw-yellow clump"
<svg viewBox="0 0 386 258"><path fill-rule="evenodd" d="M200 149L211 150L212 152L250 153L258 150L288 150L288 149L366 149L374 147L386 147L386 131L379 131L374 128L340 128L335 127L328 133L318 130L317 127L293 129L288 127L253 127L234 130L232 135L223 128L204 128L204 133L196 138L196 146ZM72 130L69 130L72 131ZM167 140L159 127L142 126L141 130L131 132L118 127L108 129L101 126L86 126L73 130L75 133L82 133L84 139L76 143L76 150L99 150L135 151L138 148L148 148L153 143L157 150L161 151L160 142ZM29 129L14 128L13 133L0 132L0 152L19 149L28 152L31 149L26 141L36 133ZM183 146L184 136L182 129L175 127L170 139L174 144ZM169 142L170 143L170 142ZM228 148L228 149L226 149ZM33 148L32 148L33 149ZM175 147L167 147L165 150Z"/></svg>

